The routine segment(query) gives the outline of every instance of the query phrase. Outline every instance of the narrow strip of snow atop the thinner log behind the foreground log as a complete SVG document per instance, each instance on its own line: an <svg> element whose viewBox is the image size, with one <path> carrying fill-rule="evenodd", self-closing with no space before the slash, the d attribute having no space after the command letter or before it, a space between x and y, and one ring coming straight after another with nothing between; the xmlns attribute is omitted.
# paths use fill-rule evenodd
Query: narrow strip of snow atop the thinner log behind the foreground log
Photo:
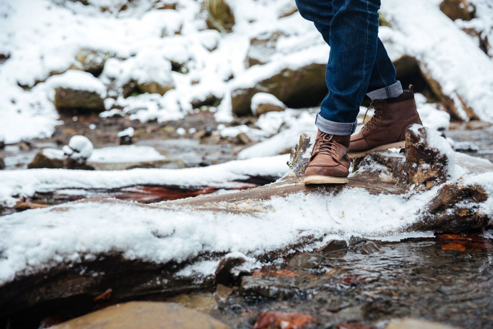
<svg viewBox="0 0 493 329"><path fill-rule="evenodd" d="M202 186L234 187L243 183L232 181L246 180L251 176L281 177L288 169L286 166L288 158L286 154L261 160L253 158L230 161L209 167L132 169L124 172L65 169L16 170L15 173L1 171L0 205L14 206L18 201L14 195L32 196L35 192L55 191L62 188L118 188L140 184L197 188Z"/></svg>

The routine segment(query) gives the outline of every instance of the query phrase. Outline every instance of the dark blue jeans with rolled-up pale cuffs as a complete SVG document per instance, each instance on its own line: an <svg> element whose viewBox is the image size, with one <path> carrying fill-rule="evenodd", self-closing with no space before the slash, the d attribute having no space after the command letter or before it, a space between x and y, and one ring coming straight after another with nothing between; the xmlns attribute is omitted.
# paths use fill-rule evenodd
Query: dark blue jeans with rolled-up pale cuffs
<svg viewBox="0 0 493 329"><path fill-rule="evenodd" d="M316 125L327 134L351 135L365 94L387 99L403 93L378 37L380 0L296 0L296 5L330 46L328 94Z"/></svg>

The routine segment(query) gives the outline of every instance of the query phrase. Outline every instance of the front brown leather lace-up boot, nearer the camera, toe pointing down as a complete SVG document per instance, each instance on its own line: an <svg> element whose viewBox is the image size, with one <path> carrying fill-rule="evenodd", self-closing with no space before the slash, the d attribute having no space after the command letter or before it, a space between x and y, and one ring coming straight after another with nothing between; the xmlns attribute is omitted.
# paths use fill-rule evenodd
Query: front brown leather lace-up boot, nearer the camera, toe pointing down
<svg viewBox="0 0 493 329"><path fill-rule="evenodd" d="M346 155L351 136L336 136L318 130L310 162L305 170L305 184L348 183Z"/></svg>

